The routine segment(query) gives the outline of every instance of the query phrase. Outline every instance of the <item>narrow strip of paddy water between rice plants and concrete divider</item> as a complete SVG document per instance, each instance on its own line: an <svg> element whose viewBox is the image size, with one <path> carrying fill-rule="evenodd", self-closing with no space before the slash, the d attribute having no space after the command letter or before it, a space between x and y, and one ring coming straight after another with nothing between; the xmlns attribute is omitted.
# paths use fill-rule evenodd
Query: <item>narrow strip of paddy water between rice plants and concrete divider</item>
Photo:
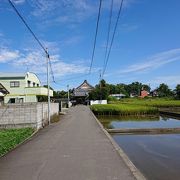
<svg viewBox="0 0 180 180"><path fill-rule="evenodd" d="M177 128L180 127L180 120L166 116L143 116L143 117L120 117L120 116L99 116L98 119L108 129L119 128Z"/></svg>

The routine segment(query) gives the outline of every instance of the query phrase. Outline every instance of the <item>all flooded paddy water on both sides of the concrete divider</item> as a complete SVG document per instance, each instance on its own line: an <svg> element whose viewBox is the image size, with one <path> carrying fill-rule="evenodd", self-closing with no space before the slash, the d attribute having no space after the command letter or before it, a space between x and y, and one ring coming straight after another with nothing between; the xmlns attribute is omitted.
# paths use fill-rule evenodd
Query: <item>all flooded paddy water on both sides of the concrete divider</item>
<svg viewBox="0 0 180 180"><path fill-rule="evenodd" d="M98 117L106 128L180 128L180 120L156 117ZM180 134L120 135L113 139L149 180L180 180Z"/></svg>

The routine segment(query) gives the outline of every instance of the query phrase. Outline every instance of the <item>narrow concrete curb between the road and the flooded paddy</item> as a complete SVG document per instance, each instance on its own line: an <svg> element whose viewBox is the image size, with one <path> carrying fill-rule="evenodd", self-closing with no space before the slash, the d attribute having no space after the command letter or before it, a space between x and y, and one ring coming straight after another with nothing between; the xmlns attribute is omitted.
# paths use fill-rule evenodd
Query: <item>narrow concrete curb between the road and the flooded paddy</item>
<svg viewBox="0 0 180 180"><path fill-rule="evenodd" d="M127 167L130 169L130 171L132 172L134 177L137 180L146 180L146 178L140 172L140 170L137 169L137 167L132 163L132 161L129 159L129 157L126 155L126 153L120 148L120 146L114 141L114 139L111 137L111 135L105 130L103 125L99 122L99 120L96 118L96 116L94 115L94 113L91 111L90 108L89 108L89 110L90 110L91 114L93 115L94 119L96 120L97 124L100 126L101 130L108 137L108 139L110 140L111 144L113 145L113 147L115 148L115 150L117 151L119 156L123 159L123 161L125 162Z"/></svg>

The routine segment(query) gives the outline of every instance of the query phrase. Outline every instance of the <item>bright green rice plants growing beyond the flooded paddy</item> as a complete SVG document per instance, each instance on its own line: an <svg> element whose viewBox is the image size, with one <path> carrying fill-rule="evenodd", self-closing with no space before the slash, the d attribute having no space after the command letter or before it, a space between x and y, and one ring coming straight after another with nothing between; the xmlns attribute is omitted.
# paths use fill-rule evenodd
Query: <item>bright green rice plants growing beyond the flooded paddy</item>
<svg viewBox="0 0 180 180"><path fill-rule="evenodd" d="M96 115L152 115L158 113L158 108L180 107L180 101L168 98L125 98L110 101L107 105L92 105Z"/></svg>

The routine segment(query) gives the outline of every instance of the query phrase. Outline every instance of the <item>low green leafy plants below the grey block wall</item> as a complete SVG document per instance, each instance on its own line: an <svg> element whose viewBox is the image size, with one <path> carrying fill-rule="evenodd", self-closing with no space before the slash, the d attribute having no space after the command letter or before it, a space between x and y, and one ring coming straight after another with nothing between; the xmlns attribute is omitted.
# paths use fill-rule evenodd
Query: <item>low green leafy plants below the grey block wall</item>
<svg viewBox="0 0 180 180"><path fill-rule="evenodd" d="M0 130L0 156L15 148L33 132L32 128Z"/></svg>

